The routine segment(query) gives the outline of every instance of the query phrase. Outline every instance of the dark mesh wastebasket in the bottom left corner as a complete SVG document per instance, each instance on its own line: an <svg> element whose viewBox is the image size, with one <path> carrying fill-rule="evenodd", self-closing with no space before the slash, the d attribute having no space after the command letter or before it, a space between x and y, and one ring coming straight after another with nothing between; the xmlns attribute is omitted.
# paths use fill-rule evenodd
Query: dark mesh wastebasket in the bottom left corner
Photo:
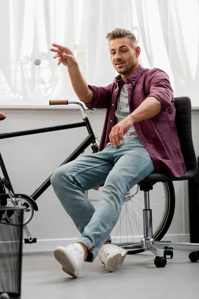
<svg viewBox="0 0 199 299"><path fill-rule="evenodd" d="M0 295L20 298L22 264L22 222L25 207L0 206L0 213L11 213L17 225L5 225L0 221Z"/></svg>

